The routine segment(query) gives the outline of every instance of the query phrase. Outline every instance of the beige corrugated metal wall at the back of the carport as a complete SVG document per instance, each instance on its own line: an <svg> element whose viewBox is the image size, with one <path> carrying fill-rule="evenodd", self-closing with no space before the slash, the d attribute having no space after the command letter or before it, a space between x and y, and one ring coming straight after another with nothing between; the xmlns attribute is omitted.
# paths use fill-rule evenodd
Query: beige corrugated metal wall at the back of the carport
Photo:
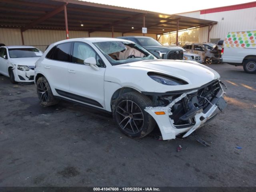
<svg viewBox="0 0 256 192"><path fill-rule="evenodd" d="M140 33L126 33L124 36L142 36ZM87 31L69 31L70 38L88 37ZM122 36L120 32L114 32L114 37ZM156 34L146 34L156 38ZM112 32L92 32L90 37L112 37ZM42 51L54 42L66 39L64 30L26 30L23 32L24 45L34 46ZM22 45L20 29L0 28L0 43L6 45Z"/></svg>

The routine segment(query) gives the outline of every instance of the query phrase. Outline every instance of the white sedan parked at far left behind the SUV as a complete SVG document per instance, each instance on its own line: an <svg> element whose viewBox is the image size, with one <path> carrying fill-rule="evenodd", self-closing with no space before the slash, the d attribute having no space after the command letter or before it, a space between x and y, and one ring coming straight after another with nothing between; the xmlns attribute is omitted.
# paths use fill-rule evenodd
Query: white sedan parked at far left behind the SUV
<svg viewBox="0 0 256 192"><path fill-rule="evenodd" d="M0 47L0 73L12 83L33 82L35 62L42 52L32 46Z"/></svg>

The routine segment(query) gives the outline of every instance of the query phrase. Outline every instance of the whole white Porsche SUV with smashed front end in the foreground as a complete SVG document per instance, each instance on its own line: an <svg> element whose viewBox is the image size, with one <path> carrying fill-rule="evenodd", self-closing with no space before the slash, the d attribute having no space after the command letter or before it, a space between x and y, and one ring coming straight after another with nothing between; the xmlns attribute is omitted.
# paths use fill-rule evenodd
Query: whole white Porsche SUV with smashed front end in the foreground
<svg viewBox="0 0 256 192"><path fill-rule="evenodd" d="M164 140L186 137L226 105L216 71L193 61L156 59L124 39L56 42L36 62L35 74L42 106L61 98L112 112L132 138L146 136L156 124Z"/></svg>

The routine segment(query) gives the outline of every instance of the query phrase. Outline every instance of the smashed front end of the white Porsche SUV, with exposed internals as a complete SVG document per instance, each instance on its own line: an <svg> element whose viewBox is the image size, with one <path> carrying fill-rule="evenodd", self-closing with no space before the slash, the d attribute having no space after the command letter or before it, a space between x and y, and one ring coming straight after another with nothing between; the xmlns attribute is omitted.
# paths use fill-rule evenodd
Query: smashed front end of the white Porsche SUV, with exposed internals
<svg viewBox="0 0 256 192"><path fill-rule="evenodd" d="M214 80L195 90L166 93L144 93L154 106L145 108L158 124L163 140L183 137L203 126L226 107L224 90L219 80Z"/></svg>

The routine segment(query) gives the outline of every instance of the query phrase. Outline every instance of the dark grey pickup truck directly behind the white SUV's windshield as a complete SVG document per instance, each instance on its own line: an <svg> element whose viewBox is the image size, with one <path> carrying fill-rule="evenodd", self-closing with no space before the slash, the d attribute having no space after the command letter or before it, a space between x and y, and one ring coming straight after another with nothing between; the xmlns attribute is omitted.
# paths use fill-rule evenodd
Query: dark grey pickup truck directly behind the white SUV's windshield
<svg viewBox="0 0 256 192"><path fill-rule="evenodd" d="M183 60L183 50L178 46L163 46L157 40L145 36L118 37L139 44L153 54L156 58Z"/></svg>

